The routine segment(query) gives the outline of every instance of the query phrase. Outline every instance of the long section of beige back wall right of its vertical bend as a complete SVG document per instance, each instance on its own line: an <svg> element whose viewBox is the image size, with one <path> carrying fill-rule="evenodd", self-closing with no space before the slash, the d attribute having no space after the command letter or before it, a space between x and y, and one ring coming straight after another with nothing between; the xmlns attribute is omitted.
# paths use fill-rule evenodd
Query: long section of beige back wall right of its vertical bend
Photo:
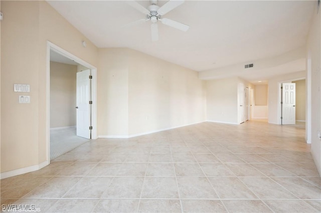
<svg viewBox="0 0 321 213"><path fill-rule="evenodd" d="M205 121L198 72L135 50L129 56L129 135Z"/></svg>

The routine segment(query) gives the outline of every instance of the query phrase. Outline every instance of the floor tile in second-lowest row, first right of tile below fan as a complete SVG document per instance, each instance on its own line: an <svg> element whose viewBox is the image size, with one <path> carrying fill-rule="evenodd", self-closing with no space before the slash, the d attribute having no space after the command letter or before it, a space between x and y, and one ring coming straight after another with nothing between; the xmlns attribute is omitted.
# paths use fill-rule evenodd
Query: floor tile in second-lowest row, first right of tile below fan
<svg viewBox="0 0 321 213"><path fill-rule="evenodd" d="M177 182L181 198L218 198L218 195L206 177L177 177Z"/></svg>

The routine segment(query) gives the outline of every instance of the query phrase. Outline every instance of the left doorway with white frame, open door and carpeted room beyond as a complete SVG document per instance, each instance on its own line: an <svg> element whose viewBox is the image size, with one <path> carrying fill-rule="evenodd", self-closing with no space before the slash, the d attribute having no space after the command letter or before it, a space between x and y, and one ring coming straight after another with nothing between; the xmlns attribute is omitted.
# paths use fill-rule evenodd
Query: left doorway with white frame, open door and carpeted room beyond
<svg viewBox="0 0 321 213"><path fill-rule="evenodd" d="M97 138L96 68L49 41L47 53L47 160L50 162ZM84 74L88 74L87 79Z"/></svg>

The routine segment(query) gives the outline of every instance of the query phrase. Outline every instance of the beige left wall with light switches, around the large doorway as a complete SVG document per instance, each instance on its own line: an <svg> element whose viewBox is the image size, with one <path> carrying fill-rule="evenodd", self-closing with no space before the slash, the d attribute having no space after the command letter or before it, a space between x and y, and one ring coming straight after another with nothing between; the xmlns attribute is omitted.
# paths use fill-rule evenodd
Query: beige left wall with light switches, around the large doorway
<svg viewBox="0 0 321 213"><path fill-rule="evenodd" d="M1 72L1 99L6 103L1 107L1 172L5 172L47 160L47 40L93 65L98 49L46 1L1 1L1 10L6 14L1 22L1 69L6 70ZM81 40L86 40L86 48ZM22 93L13 91L14 83L30 84L31 103L18 103Z"/></svg>

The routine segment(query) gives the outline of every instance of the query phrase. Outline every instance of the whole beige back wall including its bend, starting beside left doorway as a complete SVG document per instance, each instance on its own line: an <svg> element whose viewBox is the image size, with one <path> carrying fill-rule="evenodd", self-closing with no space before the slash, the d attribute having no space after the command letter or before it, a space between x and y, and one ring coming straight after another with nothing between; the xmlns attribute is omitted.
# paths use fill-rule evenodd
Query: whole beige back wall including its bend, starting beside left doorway
<svg viewBox="0 0 321 213"><path fill-rule="evenodd" d="M205 120L196 71L128 48L99 49L98 135L126 137Z"/></svg>

